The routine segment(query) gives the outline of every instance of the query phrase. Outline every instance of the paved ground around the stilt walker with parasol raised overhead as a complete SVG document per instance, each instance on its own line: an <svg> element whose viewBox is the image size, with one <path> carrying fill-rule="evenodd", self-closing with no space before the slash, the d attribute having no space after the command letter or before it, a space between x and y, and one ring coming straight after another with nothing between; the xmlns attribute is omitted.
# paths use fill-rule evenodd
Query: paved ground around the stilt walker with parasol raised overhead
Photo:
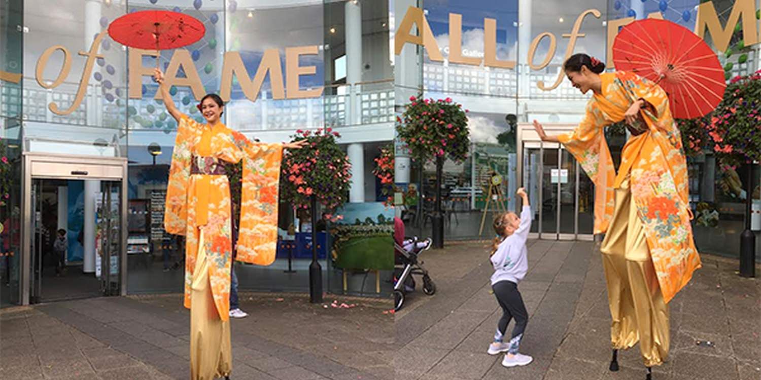
<svg viewBox="0 0 761 380"><path fill-rule="evenodd" d="M390 300L240 293L232 379L391 379ZM334 308L345 303L347 309ZM189 378L182 296L100 297L0 310L0 378Z"/></svg>

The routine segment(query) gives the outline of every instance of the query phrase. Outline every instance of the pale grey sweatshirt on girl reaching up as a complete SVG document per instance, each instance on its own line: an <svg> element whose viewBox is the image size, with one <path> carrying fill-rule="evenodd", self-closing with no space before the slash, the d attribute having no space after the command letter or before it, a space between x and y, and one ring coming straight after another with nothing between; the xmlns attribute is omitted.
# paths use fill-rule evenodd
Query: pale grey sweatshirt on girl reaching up
<svg viewBox="0 0 761 380"><path fill-rule="evenodd" d="M521 211L521 224L518 229L499 243L497 252L489 259L494 267L492 285L499 281L518 283L528 271L526 239L531 228L531 207L524 206Z"/></svg>

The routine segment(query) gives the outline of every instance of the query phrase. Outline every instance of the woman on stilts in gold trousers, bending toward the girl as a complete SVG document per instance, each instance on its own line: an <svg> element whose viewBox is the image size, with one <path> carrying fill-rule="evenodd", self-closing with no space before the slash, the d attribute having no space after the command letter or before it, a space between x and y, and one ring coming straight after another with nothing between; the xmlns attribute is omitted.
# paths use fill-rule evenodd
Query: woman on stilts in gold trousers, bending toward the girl
<svg viewBox="0 0 761 380"><path fill-rule="evenodd" d="M680 132L658 84L626 71L601 74L605 64L586 54L572 55L564 69L574 87L593 92L584 119L565 135L546 135L536 120L534 128L542 141L563 144L594 181L594 233L605 233L613 318L610 370L618 370L618 350L639 342L649 380L669 352L668 302L701 266ZM603 128L621 121L632 137L616 174Z"/></svg>

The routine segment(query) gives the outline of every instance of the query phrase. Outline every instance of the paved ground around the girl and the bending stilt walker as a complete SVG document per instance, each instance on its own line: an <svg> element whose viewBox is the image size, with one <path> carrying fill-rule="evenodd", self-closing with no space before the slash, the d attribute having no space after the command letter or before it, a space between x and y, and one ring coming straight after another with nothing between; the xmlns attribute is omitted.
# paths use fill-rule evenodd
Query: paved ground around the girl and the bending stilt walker
<svg viewBox="0 0 761 380"><path fill-rule="evenodd" d="M508 369L501 356L489 356L501 310L490 293L487 244L450 242L421 256L438 290L409 294L396 313L397 378L645 378L638 345L619 353L619 372L608 370L610 312L594 242L528 242L529 271L518 288L530 315L521 351L533 363ZM670 302L670 357L653 378L759 380L761 281L739 277L737 260L702 255L702 261Z"/></svg>

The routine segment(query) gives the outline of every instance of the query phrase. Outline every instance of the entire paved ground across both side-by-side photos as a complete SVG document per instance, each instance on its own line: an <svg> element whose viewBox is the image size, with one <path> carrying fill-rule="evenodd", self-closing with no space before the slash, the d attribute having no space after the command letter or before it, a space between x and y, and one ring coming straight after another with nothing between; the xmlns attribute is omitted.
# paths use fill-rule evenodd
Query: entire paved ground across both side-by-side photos
<svg viewBox="0 0 761 380"><path fill-rule="evenodd" d="M534 361L506 369L501 356L489 356L500 310L490 293L487 244L447 242L425 252L437 293L410 293L396 315L390 299L329 295L310 304L306 295L240 293L250 316L232 321L231 378L645 378L638 346L619 354L619 372L607 370L610 313L594 242L528 243L529 272L519 289L530 320L521 350ZM737 260L702 261L670 302L670 358L654 380L759 380L761 281L739 277ZM334 308L333 300L355 306ZM186 379L188 334L180 294L6 308L0 378Z"/></svg>

